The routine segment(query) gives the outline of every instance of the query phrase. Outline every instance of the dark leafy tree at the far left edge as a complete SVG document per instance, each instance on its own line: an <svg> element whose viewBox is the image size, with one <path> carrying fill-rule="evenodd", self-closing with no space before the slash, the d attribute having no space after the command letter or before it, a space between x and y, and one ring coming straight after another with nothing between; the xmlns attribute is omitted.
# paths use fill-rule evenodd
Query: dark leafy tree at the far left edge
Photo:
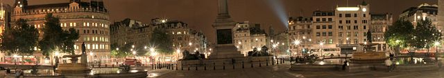
<svg viewBox="0 0 444 78"><path fill-rule="evenodd" d="M29 26L25 19L19 19L14 27L8 28L1 36L1 50L6 50L9 54L31 55L37 46L39 36L38 30L34 26Z"/></svg>

